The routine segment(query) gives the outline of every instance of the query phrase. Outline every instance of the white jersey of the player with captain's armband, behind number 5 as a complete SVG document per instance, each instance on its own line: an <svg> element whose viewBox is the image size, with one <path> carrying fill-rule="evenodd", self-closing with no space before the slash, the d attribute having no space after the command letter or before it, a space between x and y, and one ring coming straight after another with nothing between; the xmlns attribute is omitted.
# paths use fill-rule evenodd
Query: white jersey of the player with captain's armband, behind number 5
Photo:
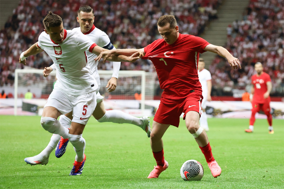
<svg viewBox="0 0 284 189"><path fill-rule="evenodd" d="M80 27L76 27L72 29L72 31L78 31L81 32ZM94 43L96 43L98 46L111 50L115 49L112 43L110 42L110 39L108 38L108 35L106 35L105 32L101 31L100 29L96 28L95 25L86 33L84 33L87 37L89 37ZM98 73L98 61L95 62L94 59L97 57L96 54L90 53L86 51L87 57L90 61L90 67L91 67L91 72L94 74L95 79L97 80L98 86L101 86L101 81L100 81L100 76ZM120 68L120 62L114 62L113 63L113 74L112 77L118 78L118 72Z"/></svg>

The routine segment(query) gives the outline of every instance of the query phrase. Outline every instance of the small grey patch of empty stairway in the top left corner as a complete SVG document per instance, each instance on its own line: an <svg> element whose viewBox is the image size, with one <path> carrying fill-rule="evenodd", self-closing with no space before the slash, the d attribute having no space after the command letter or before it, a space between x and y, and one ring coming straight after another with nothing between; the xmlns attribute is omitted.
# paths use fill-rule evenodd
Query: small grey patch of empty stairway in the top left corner
<svg viewBox="0 0 284 189"><path fill-rule="evenodd" d="M3 29L9 16L13 15L13 10L18 7L20 0L1 0L0 2L0 29Z"/></svg>

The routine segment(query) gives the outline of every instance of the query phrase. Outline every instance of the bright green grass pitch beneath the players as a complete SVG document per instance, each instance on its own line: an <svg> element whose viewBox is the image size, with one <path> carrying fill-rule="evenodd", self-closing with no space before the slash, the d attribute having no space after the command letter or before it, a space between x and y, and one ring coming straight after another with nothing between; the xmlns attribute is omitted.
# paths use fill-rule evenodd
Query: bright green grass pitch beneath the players
<svg viewBox="0 0 284 189"><path fill-rule="evenodd" d="M151 118L153 120L153 118ZM181 120L163 137L169 167L158 179L147 179L155 160L149 138L130 124L89 120L86 163L81 176L69 176L75 152L49 163L26 165L24 158L41 152L51 134L40 126L39 116L0 116L0 188L284 188L284 121L273 120L275 133L268 134L266 120L256 120L254 133L245 133L248 119L208 119L208 138L214 158L222 168L212 177L205 158ZM181 165L195 159L204 167L201 181L184 181Z"/></svg>

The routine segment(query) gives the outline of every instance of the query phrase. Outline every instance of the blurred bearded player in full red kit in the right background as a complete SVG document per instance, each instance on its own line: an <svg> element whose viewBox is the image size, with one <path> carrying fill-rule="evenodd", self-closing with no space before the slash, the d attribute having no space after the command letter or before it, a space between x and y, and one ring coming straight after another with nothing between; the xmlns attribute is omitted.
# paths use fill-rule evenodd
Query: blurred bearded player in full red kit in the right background
<svg viewBox="0 0 284 189"><path fill-rule="evenodd" d="M267 121L269 124L268 133L273 134L272 127L272 115L270 113L270 92L272 89L272 83L270 76L267 73L263 72L262 63L257 62L254 65L254 69L257 72L255 75L251 77L251 82L253 87L251 88L252 97L252 109L251 109L251 117L249 121L249 129L245 129L245 132L252 133L255 122L255 114L262 110L267 115Z"/></svg>

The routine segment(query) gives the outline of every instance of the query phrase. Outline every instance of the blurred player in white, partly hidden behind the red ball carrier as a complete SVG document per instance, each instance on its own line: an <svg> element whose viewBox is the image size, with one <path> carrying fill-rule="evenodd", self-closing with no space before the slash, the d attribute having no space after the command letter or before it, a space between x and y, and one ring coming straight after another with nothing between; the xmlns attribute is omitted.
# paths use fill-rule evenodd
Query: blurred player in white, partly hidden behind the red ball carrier
<svg viewBox="0 0 284 189"><path fill-rule="evenodd" d="M203 100L202 100L202 104L201 104L201 108L202 108L202 113L200 116L200 126L205 130L205 131L209 131L209 127L208 127L208 122L207 122L207 114L206 114L206 106L207 106L207 101L211 101L211 89L212 89L212 82L211 82L211 74L208 70L206 70L205 68L205 62L203 58L199 58L198 61L198 78L199 81L201 83L201 88L202 88L202 96L203 96Z"/></svg>

